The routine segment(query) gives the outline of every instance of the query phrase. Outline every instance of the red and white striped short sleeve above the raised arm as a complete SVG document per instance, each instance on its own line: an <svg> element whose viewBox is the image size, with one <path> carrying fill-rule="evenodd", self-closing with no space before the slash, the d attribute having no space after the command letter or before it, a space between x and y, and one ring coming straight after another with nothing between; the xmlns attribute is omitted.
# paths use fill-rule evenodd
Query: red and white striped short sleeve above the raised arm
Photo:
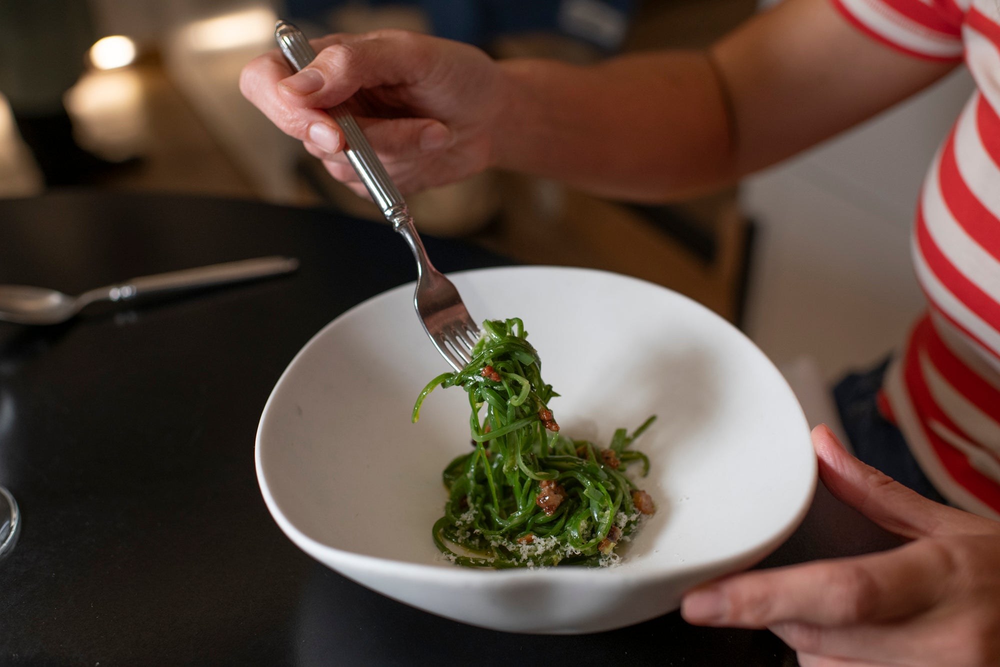
<svg viewBox="0 0 1000 667"><path fill-rule="evenodd" d="M962 0L832 0L870 37L927 60L962 59Z"/></svg>

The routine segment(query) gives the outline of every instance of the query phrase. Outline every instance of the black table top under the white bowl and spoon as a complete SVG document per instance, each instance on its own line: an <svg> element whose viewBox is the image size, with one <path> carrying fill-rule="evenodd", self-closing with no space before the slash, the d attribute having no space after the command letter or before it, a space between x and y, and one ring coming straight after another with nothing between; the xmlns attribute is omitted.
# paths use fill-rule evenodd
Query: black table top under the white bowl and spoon
<svg viewBox="0 0 1000 667"><path fill-rule="evenodd" d="M426 243L445 271L509 263ZM260 413L320 327L415 277L387 226L186 196L0 201L0 283L77 293L268 254L301 268L95 305L57 326L0 322L0 485L23 515L0 561L0 664L795 664L766 631L695 628L677 613L579 637L474 628L373 593L285 538L254 473ZM762 566L892 544L821 488Z"/></svg>

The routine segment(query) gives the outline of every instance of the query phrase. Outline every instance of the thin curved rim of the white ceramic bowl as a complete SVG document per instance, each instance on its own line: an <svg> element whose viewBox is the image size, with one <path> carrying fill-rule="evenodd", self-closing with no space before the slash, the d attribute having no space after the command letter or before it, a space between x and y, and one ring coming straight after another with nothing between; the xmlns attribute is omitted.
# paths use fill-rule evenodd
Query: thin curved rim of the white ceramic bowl
<svg viewBox="0 0 1000 667"><path fill-rule="evenodd" d="M750 340L750 338L741 331L734 324L723 318L718 313L714 312L707 306L699 303L695 299L682 294L676 290L665 287L661 284L651 282L642 278L638 278L631 275L625 275L623 273L617 273L615 271L609 271L598 268L587 268L580 266L558 266L550 264L523 264L523 265L513 265L513 266L490 266L484 268L471 268L461 271L452 271L447 273L450 276L461 276L470 273L489 273L489 272L511 272L511 271L523 271L523 270L536 270L536 269L546 269L555 270L559 272L584 272L584 273L596 273L603 274L606 276L612 276L614 278L629 281L634 281L640 284L655 287L657 289L662 289L670 292L674 296L679 296L680 298L689 301L691 304L695 305L697 308L706 310L711 316L717 317L724 324L729 326L735 333L742 337L746 342L748 342L757 353L764 357L767 363L775 370L778 374L781 385L791 394L793 399L795 399L796 406L798 407L798 417L801 419L802 425L805 429L805 440L808 442L809 426L805 418L805 414L802 412L802 407L798 403L798 399L795 397L795 393L792 391L788 384L788 381L781 375L781 373L771 362L770 358L764 355L763 351L757 347L757 345ZM405 290L413 290L415 288L416 281L411 280L410 282L405 282L403 284L397 285L386 289L385 291L379 292L373 296L366 298L365 300L353 305L352 307L344 310L332 320L327 322L322 328L320 328L316 333L314 333L309 341L296 353L295 357L288 363L285 370L281 373L278 382L275 383L274 388L271 390L271 394L267 398L267 402L264 404L264 409L261 412L260 422L257 427L257 434L254 442L254 464L257 472L257 483L261 490L261 495L264 498L264 503L267 506L268 512L270 512L272 518L278 524L278 527L285 533L288 538L295 543L300 549L305 551L310 556L317 558L317 560L324 561L327 563L337 563L343 564L351 570L352 575L362 574L362 575L377 575L379 577L388 577L394 579L420 579L424 582L431 584L463 584L463 585L489 585L502 582L508 582L512 580L520 580L526 577L537 577L540 573L544 572L546 578L555 577L559 580L566 580L569 583L590 583L594 584L594 572L602 572L600 575L602 578L608 578L609 581L617 582L618 584L629 583L629 584L639 584L639 585L649 585L655 582L659 582L665 579L673 578L676 576L684 574L693 574L700 571L714 571L720 569L731 569L734 567L744 568L751 567L752 565L759 562L761 559L765 558L768 554L773 552L777 547L784 543L792 533L799 527L802 521L805 519L809 508L812 505L813 497L816 493L816 486L818 483L818 463L816 457L813 456L809 459L810 465L807 474L809 475L808 481L808 491L803 496L800 501L799 507L796 511L790 515L789 519L784 522L777 530L772 531L770 534L763 536L762 539L755 542L748 548L742 549L737 553L728 554L711 560L698 561L697 563L684 564L684 563L665 563L660 566L646 567L642 570L634 570L627 567L610 567L610 568L585 568L585 567L543 567L543 568L512 568L495 570L491 568L463 568L458 566L453 567L442 567L441 565L430 565L423 563L412 563L408 561L400 561L392 558L385 558L381 556L369 556L366 554L359 554L357 552L348 551L345 549L338 549L336 547L331 547L330 545L319 542L295 527L294 524L285 516L278 505L277 500L275 500L271 489L267 484L266 475L263 468L263 461L261 458L261 450L263 447L262 434L264 431L264 424L267 420L268 413L274 410L273 404L276 401L276 397L282 387L286 382L288 382L289 374L292 369L296 366L299 359L308 354L308 351L317 345L320 340L327 336L327 332L333 328L337 323L348 316L353 316L355 313L366 310L371 307L377 307L379 302L385 298L390 298L393 294L396 294ZM316 556L316 554L321 554L323 558Z"/></svg>

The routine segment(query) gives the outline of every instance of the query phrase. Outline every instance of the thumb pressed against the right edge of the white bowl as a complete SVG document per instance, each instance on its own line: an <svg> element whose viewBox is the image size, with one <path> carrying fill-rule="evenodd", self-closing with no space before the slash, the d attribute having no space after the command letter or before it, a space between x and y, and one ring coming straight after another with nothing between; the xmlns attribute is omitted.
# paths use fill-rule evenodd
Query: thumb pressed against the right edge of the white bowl
<svg viewBox="0 0 1000 667"><path fill-rule="evenodd" d="M812 432L823 484L844 504L896 535L927 536L981 532L987 519L935 503L847 453L826 425Z"/></svg>

